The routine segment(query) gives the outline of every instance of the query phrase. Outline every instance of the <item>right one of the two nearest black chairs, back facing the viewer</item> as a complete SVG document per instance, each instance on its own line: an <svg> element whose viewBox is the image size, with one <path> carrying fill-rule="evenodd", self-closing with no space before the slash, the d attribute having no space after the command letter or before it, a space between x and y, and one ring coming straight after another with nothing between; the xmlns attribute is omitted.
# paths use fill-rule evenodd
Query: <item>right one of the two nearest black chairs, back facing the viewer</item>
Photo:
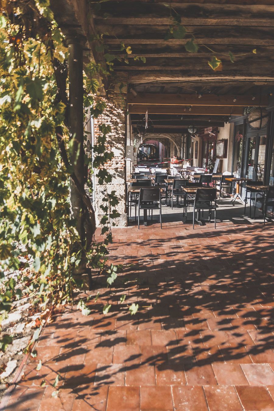
<svg viewBox="0 0 274 411"><path fill-rule="evenodd" d="M196 196L195 196L194 203L193 203L193 229L194 229L194 223L195 223L195 210L197 210L197 214L200 212L200 210L208 210L209 222L211 222L211 213L213 209L214 209L214 227L216 229L216 207L217 207L216 197L217 197L216 188L198 188L197 189Z"/></svg>

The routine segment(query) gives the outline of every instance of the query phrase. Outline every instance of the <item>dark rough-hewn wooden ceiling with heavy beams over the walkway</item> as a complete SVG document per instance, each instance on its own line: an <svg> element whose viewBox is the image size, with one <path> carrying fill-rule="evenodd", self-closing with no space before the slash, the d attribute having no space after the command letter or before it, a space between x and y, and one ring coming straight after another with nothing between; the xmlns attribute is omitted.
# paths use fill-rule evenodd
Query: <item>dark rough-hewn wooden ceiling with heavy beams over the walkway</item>
<svg viewBox="0 0 274 411"><path fill-rule="evenodd" d="M224 124L244 106L266 106L274 92L274 0L183 0L170 7L187 29L183 39L164 39L173 21L160 0L107 1L94 11L95 30L105 33L109 53L120 58L120 44L131 46L128 63L114 60L113 67L127 73L133 126L146 110L167 131L194 120L201 127L211 118ZM192 36L197 53L184 47ZM208 65L212 55L222 60L220 71Z"/></svg>

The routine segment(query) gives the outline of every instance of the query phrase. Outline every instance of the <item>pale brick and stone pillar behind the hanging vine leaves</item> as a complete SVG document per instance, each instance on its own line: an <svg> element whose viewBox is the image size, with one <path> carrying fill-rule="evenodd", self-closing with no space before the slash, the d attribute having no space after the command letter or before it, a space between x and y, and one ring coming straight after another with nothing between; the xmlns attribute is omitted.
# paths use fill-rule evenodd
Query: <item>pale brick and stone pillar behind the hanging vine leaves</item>
<svg viewBox="0 0 274 411"><path fill-rule="evenodd" d="M126 161L125 148L127 144L127 79L119 76L111 90L108 90L108 97L105 99L106 109L99 118L94 119L94 136L100 135L99 125L104 123L111 126L111 133L108 134L106 145L108 150L113 151L113 159L105 164L106 170L112 175L111 183L99 185L95 177L95 208L96 219L99 224L104 215L100 209L103 204L102 199L107 192L115 190L119 199L116 206L120 217L115 219L115 223L122 227L127 225L126 214Z"/></svg>

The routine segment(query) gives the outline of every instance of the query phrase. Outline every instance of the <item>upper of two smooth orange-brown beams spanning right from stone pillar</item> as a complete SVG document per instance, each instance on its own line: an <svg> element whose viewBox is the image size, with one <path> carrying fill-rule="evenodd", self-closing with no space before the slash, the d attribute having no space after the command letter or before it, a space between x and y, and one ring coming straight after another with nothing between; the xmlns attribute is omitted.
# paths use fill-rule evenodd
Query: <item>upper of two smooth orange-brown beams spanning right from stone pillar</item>
<svg viewBox="0 0 274 411"><path fill-rule="evenodd" d="M253 99L255 97L255 99ZM236 101L233 100L236 98ZM267 106L267 96L217 96L204 95L198 98L193 94L138 94L136 97L129 94L127 97L128 104L164 104L164 105L182 105L182 106Z"/></svg>

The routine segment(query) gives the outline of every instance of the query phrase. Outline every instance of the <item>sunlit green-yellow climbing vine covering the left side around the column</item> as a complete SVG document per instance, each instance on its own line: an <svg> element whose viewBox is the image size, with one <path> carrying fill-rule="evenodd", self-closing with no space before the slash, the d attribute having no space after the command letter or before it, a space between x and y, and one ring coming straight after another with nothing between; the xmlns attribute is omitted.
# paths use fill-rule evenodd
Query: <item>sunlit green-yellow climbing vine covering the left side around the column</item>
<svg viewBox="0 0 274 411"><path fill-rule="evenodd" d="M99 185L112 179L104 167L113 158L106 148L111 127L101 123L96 143L86 147L87 190L82 190L68 128L68 49L48 5L47 0L18 0L2 2L0 10L0 322L22 296L44 307L71 302L76 287L83 286L83 279L73 275L83 252L87 266L104 273L108 284L117 276L117 267L106 265L111 221L119 216L117 197L106 192L100 205L100 242L94 239L90 202L94 171ZM94 118L106 108L97 95L98 76L112 68L105 57L107 67L90 61L84 70L84 110ZM85 205L85 245L71 215L71 181ZM83 300L78 308L84 315L90 312ZM0 349L10 342L12 336L2 335Z"/></svg>

